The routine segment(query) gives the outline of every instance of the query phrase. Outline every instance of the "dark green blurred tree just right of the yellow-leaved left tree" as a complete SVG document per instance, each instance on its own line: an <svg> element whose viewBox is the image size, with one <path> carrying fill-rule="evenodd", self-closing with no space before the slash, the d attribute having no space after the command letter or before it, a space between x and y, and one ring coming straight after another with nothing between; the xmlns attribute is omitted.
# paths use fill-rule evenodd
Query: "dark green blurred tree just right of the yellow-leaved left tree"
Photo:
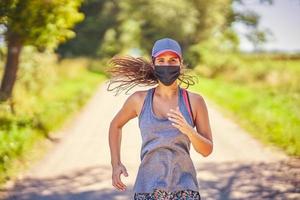
<svg viewBox="0 0 300 200"><path fill-rule="evenodd" d="M111 29L118 27L119 8L118 3L114 1L84 1L80 11L84 13L85 20L75 26L76 37L61 44L57 49L57 52L63 57L82 55L95 57L99 53L98 49L101 48L101 44L104 43L103 39L107 38L106 32L111 32ZM110 35L110 33L108 34ZM115 45L112 48L118 46ZM99 54L102 55L102 51ZM106 55L105 52L103 54Z"/></svg>

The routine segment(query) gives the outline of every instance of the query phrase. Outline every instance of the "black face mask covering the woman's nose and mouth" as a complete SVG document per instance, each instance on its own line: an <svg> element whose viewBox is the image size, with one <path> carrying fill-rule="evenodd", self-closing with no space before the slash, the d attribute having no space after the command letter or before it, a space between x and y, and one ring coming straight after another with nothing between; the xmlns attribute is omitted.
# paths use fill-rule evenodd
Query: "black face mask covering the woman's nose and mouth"
<svg viewBox="0 0 300 200"><path fill-rule="evenodd" d="M180 75L180 65L155 65L154 75L164 85L171 85Z"/></svg>

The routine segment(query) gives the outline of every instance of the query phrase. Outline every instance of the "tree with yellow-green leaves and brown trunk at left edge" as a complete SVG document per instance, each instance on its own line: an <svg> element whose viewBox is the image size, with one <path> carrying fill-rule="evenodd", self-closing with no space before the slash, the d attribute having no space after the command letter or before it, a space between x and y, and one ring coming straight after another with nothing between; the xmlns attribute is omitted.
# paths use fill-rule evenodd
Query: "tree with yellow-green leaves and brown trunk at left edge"
<svg viewBox="0 0 300 200"><path fill-rule="evenodd" d="M11 98L19 56L24 45L40 51L53 49L68 38L70 30L84 15L78 12L82 0L1 0L0 24L6 27L5 70L0 87L0 101Z"/></svg>

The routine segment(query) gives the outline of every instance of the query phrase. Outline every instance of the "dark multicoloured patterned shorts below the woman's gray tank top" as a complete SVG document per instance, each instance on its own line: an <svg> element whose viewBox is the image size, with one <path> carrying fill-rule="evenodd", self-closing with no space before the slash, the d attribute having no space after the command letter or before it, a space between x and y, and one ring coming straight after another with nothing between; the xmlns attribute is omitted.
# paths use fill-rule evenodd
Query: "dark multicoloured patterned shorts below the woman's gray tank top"
<svg viewBox="0 0 300 200"><path fill-rule="evenodd" d="M167 192L155 189L152 193L135 193L134 200L201 200L200 193L193 190Z"/></svg>

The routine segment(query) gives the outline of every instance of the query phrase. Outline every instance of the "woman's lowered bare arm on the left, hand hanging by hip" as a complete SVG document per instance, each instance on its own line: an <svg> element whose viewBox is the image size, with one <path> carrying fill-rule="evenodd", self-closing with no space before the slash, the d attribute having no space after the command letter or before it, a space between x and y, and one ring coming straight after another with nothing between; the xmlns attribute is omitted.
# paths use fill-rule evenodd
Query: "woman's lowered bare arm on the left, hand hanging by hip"
<svg viewBox="0 0 300 200"><path fill-rule="evenodd" d="M120 148L122 140L122 127L137 116L138 92L130 95L120 111L115 115L109 127L109 147L112 165L112 185L124 191L126 185L121 181L121 174L128 176L125 166L121 162Z"/></svg>

